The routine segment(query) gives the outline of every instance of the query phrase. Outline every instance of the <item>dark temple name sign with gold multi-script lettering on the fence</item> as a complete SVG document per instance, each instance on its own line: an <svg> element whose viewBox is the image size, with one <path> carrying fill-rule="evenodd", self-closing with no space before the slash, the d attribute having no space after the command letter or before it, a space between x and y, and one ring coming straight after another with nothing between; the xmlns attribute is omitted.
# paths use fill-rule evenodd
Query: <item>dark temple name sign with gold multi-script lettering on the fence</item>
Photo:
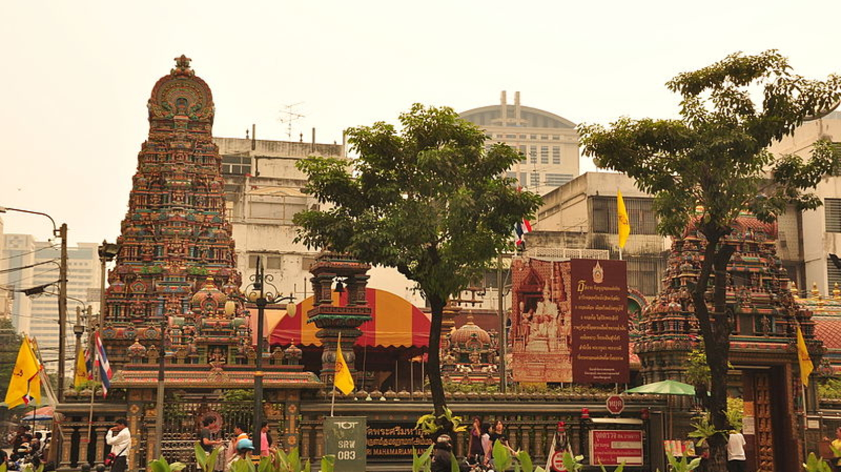
<svg viewBox="0 0 841 472"><path fill-rule="evenodd" d="M432 438L415 428L415 422L371 422L368 424L368 457L371 460L407 459L412 448L426 451ZM336 469L338 470L338 469Z"/></svg>

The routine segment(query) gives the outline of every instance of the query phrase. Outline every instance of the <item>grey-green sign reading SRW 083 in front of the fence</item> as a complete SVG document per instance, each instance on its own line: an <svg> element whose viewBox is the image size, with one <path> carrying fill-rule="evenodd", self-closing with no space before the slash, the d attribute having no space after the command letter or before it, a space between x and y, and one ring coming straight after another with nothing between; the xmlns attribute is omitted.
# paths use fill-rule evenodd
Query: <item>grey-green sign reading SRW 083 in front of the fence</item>
<svg viewBox="0 0 841 472"><path fill-rule="evenodd" d="M365 472L365 416L328 416L324 419L325 453L336 456L336 470Z"/></svg>

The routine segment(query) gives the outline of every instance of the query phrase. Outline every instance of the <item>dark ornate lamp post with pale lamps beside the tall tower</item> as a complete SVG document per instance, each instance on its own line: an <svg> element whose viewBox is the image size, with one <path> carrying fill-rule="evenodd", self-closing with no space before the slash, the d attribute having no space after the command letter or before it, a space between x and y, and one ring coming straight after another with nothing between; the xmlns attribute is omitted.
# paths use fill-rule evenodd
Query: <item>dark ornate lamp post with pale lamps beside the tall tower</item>
<svg viewBox="0 0 841 472"><path fill-rule="evenodd" d="M254 450L259 454L262 448L262 357L266 351L266 333L263 332L263 326L266 324L266 306L277 305L283 301L288 301L290 303L286 305L286 310L288 313L294 315L295 305L292 302L294 302L295 297L294 294L283 295L278 293L278 288L272 284L272 280L274 280L272 274L263 272L261 257L257 257L257 268L249 279L251 283L243 290L246 294L246 299L234 294L228 296L235 300L242 302L250 301L254 305L257 305L257 360L254 366L254 427L252 428L253 435L251 438L253 438ZM227 315L232 316L235 311L235 301L229 300L225 303L225 313Z"/></svg>

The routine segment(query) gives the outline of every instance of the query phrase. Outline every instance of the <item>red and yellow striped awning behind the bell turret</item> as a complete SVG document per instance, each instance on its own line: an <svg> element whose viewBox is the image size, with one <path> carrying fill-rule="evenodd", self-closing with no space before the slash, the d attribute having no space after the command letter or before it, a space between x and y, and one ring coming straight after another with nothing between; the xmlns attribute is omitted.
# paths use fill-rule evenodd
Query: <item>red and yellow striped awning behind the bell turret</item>
<svg viewBox="0 0 841 472"><path fill-rule="evenodd" d="M427 347L429 346L430 319L415 305L385 290L366 289L368 306L371 307L371 321L359 326L362 336L357 346L368 347ZM347 304L347 292L333 292L333 304ZM313 297L299 303L295 316L283 316L272 329L269 342L275 344L297 344L299 346L320 346L315 337L318 327L307 322L307 312L313 307Z"/></svg>

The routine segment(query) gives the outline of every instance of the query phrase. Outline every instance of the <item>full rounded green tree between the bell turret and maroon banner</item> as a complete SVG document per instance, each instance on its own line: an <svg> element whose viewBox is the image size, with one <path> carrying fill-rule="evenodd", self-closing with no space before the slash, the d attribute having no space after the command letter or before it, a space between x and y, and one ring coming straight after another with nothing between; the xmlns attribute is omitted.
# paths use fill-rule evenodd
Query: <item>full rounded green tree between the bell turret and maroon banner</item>
<svg viewBox="0 0 841 472"><path fill-rule="evenodd" d="M352 171L342 159L299 161L306 193L330 206L294 223L308 247L397 268L417 283L431 307L427 373L435 414L444 416L444 306L510 248L515 223L541 200L504 177L521 156L503 144L486 149L484 131L452 109L415 104L399 121L401 130L384 122L347 130L358 155Z"/></svg>

